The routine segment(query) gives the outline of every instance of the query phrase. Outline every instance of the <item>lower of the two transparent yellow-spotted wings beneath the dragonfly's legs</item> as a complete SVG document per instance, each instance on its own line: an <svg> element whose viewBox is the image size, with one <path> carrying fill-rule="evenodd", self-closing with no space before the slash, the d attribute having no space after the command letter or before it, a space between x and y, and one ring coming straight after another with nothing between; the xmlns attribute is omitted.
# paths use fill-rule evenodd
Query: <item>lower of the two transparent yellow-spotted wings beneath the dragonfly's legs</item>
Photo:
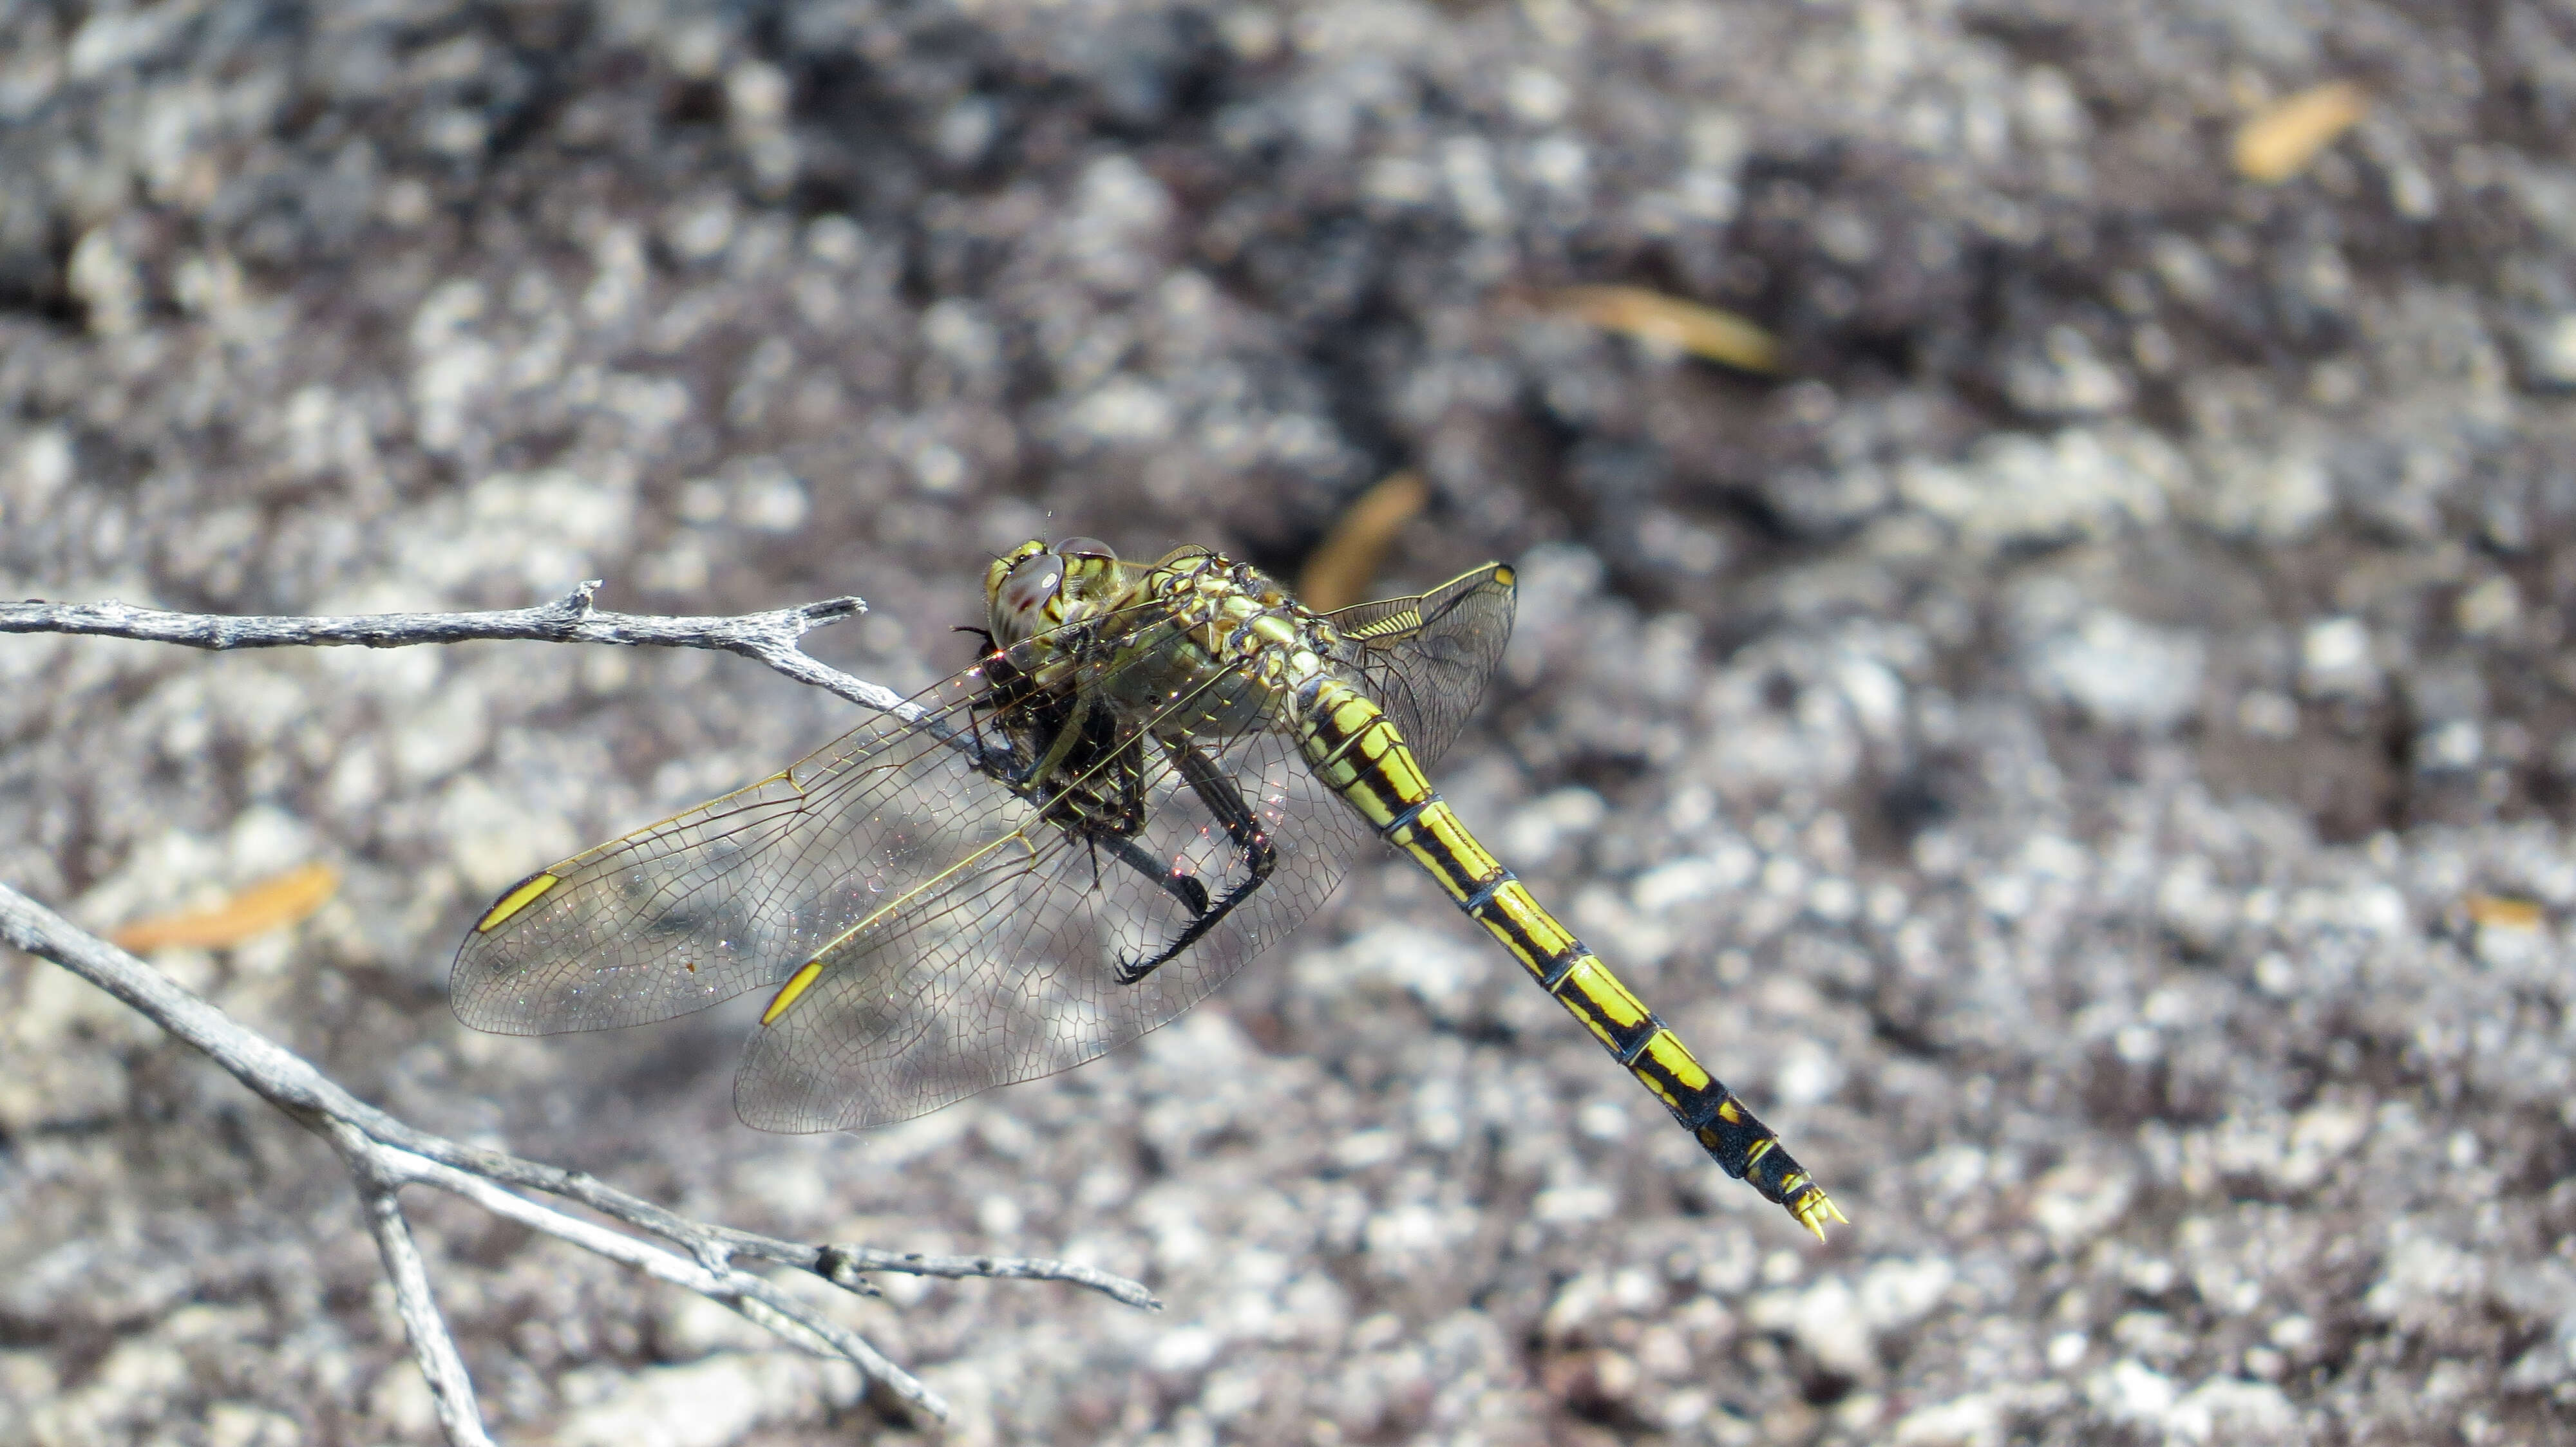
<svg viewBox="0 0 2576 1447"><path fill-rule="evenodd" d="M765 1130L873 1125L1079 1066L1198 1004L1314 914L1368 829L1278 734L1200 742L1200 757L1278 850L1267 881L1206 937L1121 984L1118 968L1162 953L1193 911L1144 870L1038 824L853 935L752 1035L734 1087L742 1117ZM1146 767L1136 845L1211 901L1249 881L1239 842L1167 760Z"/></svg>

